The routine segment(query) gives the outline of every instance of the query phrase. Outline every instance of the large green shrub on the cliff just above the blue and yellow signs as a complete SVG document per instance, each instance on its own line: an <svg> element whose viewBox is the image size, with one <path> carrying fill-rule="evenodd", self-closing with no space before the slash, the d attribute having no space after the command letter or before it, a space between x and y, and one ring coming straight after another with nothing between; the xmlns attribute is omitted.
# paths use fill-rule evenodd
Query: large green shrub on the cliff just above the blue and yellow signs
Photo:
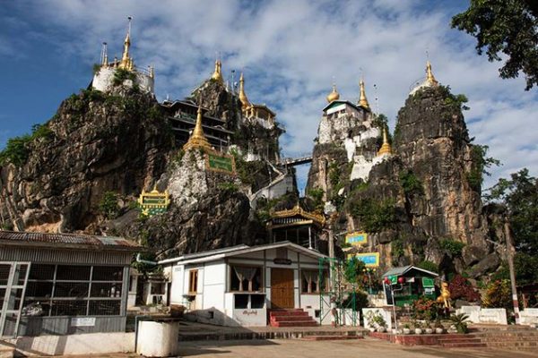
<svg viewBox="0 0 538 358"><path fill-rule="evenodd" d="M351 215L360 219L364 231L378 233L395 224L395 202L394 200L378 202L368 198L356 200L351 203Z"/></svg>

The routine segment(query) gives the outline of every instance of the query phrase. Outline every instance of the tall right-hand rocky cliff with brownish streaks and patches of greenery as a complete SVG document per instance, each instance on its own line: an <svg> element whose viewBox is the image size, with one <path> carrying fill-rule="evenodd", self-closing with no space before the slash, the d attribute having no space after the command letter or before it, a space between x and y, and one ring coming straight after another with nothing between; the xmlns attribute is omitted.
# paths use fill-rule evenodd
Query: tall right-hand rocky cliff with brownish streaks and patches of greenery
<svg viewBox="0 0 538 358"><path fill-rule="evenodd" d="M365 129L358 125L356 131ZM314 150L308 185L337 184L340 200L334 200L330 186L326 189L327 198L343 207L336 229L368 232L369 245L361 251L379 251L383 268L429 260L444 272L466 270L479 277L499 266L499 255L487 241L493 231L482 213L476 179L480 158L461 103L447 88L426 87L406 100L398 113L393 155L370 157L364 179L334 173L331 164L317 169L326 157L335 163L333 170L343 167L345 141L325 146ZM360 165L359 156L360 151L353 166Z"/></svg>

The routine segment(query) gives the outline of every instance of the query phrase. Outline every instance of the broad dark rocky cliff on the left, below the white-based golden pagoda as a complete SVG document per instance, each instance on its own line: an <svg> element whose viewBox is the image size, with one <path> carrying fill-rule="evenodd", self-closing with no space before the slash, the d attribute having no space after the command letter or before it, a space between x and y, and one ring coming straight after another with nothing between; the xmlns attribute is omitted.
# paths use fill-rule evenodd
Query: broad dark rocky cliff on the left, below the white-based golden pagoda
<svg viewBox="0 0 538 358"><path fill-rule="evenodd" d="M0 168L1 216L19 230L95 232L105 192L140 192L161 175L171 136L157 102L132 90L66 99Z"/></svg>

